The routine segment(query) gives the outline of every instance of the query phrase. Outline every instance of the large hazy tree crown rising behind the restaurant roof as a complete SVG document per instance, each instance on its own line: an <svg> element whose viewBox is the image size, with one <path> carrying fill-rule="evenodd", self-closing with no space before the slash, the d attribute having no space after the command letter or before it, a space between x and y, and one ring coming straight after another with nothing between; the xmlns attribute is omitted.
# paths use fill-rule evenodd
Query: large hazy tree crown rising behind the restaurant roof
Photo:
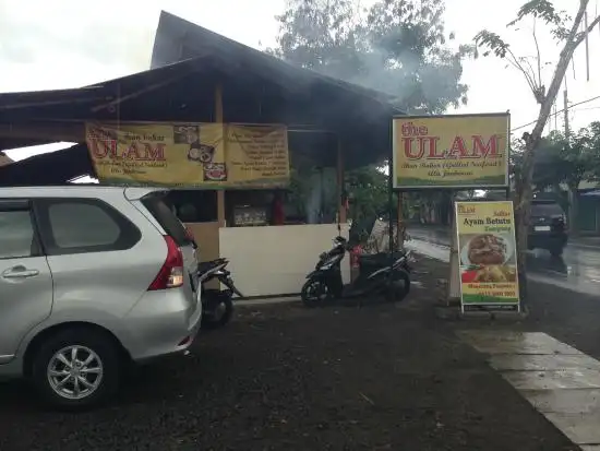
<svg viewBox="0 0 600 451"><path fill-rule="evenodd" d="M291 0L273 55L395 96L408 111L443 112L467 102L463 60L473 46L446 44L439 0Z"/></svg>

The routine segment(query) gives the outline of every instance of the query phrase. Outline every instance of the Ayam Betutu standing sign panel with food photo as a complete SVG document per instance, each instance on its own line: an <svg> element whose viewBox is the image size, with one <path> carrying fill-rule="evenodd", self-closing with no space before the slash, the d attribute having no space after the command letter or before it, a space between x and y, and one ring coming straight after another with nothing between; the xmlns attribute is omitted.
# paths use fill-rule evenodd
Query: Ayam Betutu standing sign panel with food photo
<svg viewBox="0 0 600 451"><path fill-rule="evenodd" d="M460 299L469 306L518 309L513 202L456 202Z"/></svg>

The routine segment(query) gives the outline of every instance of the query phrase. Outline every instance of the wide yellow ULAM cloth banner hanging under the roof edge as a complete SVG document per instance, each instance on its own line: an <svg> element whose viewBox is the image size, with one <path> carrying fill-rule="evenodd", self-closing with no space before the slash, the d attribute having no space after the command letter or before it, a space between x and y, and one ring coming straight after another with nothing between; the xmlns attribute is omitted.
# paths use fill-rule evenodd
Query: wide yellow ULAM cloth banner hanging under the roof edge
<svg viewBox="0 0 600 451"><path fill-rule="evenodd" d="M284 126L86 123L101 182L179 188L271 188L289 182Z"/></svg>

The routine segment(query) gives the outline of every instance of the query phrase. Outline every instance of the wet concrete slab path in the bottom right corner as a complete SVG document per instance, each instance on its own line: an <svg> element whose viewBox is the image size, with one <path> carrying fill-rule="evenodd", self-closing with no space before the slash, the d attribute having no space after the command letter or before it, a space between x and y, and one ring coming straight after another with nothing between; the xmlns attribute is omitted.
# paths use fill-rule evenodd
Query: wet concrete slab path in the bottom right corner
<svg viewBox="0 0 600 451"><path fill-rule="evenodd" d="M600 361L543 332L458 335L583 450L600 450Z"/></svg>

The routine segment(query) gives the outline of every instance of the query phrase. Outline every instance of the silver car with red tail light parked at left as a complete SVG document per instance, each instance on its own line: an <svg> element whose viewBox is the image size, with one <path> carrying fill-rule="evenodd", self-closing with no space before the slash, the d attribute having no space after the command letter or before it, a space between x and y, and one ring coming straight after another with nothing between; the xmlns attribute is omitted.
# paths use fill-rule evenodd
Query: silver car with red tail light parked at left
<svg viewBox="0 0 600 451"><path fill-rule="evenodd" d="M130 361L185 351L202 318L181 222L145 188L0 188L0 376L88 407Z"/></svg>

